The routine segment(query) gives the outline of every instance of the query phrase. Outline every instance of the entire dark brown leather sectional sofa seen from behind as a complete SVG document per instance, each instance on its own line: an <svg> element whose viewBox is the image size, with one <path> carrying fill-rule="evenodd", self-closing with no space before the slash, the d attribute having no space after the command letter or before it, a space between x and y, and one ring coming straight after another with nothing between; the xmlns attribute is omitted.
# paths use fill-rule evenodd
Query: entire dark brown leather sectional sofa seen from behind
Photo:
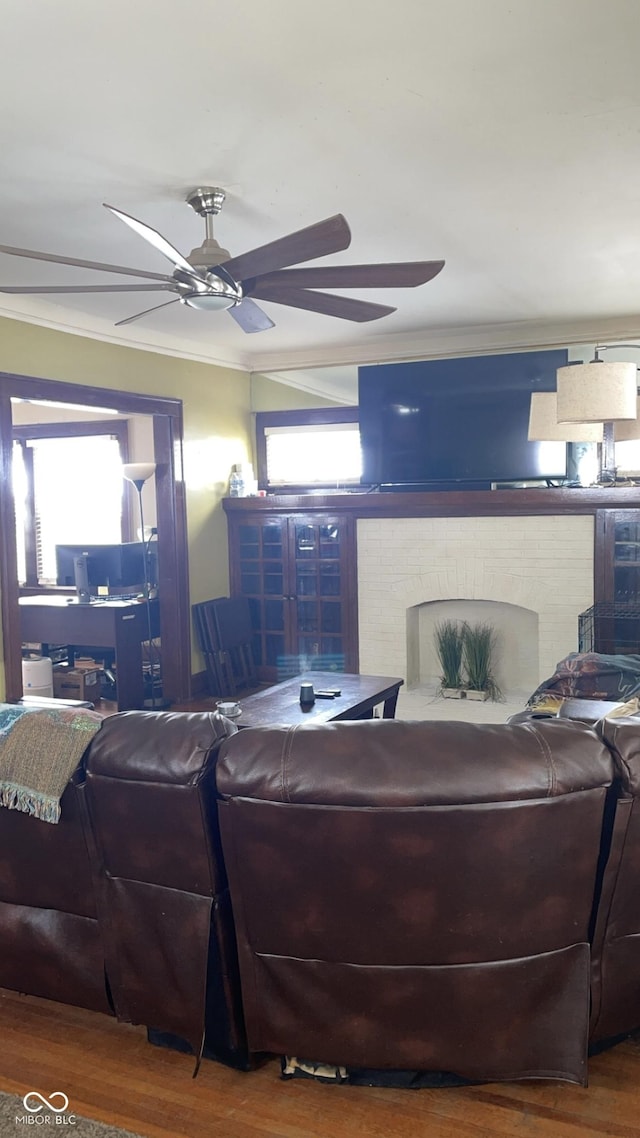
<svg viewBox="0 0 640 1138"><path fill-rule="evenodd" d="M0 809L0 987L239 1067L584 1082L590 990L640 1024L638 720L229 731L114 716Z"/></svg>

